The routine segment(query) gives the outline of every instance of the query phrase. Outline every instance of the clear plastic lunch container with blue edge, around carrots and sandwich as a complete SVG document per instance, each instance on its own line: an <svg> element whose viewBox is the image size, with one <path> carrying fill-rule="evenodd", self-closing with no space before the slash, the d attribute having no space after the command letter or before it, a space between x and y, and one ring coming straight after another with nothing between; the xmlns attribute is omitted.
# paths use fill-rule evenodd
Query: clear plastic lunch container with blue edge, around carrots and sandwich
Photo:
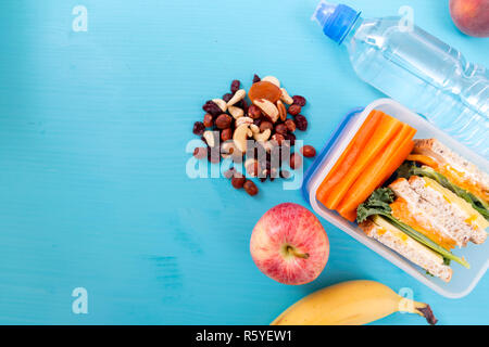
<svg viewBox="0 0 489 347"><path fill-rule="evenodd" d="M401 268L419 282L426 284L435 292L449 298L461 298L466 296L474 290L489 267L489 241L481 245L468 244L466 247L454 249L454 254L463 256L467 259L471 264L471 269L466 269L452 261L452 280L449 283L444 283L438 278L426 274L424 269L412 264L392 249L384 246L378 241L366 236L356 223L350 222L338 215L335 210L324 207L316 200L317 188L373 110L383 111L386 114L415 128L417 130L415 136L416 139L437 138L454 152L475 163L481 170L489 172L488 160L472 152L463 144L455 141L450 136L429 124L423 117L413 113L398 102L390 99L380 99L374 101L365 108L353 110L344 117L338 129L331 136L325 147L317 156L316 160L304 176L304 183L302 187L304 198L311 204L312 208L319 216L348 233L350 236L354 237L356 241L360 241L397 267Z"/></svg>

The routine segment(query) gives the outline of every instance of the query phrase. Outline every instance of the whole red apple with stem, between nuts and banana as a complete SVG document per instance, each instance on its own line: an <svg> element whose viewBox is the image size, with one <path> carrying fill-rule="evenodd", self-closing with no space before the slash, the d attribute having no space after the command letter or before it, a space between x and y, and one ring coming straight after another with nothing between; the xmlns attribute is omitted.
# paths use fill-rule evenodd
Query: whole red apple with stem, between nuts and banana
<svg viewBox="0 0 489 347"><path fill-rule="evenodd" d="M329 241L309 209L285 203L267 210L254 226L250 252L267 277L285 284L304 284L326 266Z"/></svg>

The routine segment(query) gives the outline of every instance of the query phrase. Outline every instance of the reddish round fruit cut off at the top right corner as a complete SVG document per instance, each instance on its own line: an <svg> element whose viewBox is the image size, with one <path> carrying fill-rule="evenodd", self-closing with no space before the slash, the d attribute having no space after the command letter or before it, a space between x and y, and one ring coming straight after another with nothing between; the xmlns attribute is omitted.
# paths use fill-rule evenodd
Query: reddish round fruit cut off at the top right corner
<svg viewBox="0 0 489 347"><path fill-rule="evenodd" d="M489 37L489 0L450 0L450 14L462 33Z"/></svg>

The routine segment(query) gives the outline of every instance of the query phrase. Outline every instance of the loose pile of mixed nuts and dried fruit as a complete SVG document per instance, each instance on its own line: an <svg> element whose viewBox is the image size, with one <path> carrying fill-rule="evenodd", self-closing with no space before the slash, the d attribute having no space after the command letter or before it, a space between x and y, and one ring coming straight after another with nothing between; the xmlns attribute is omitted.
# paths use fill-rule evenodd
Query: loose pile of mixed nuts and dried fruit
<svg viewBox="0 0 489 347"><path fill-rule="evenodd" d="M305 104L305 98L290 97L276 77L261 79L254 75L248 93L239 80L234 80L230 93L202 106L205 115L202 121L193 124L193 133L201 137L206 147L196 147L193 156L214 164L223 158L239 165L244 160L244 175L231 167L225 176L231 179L234 188L255 195L259 189L247 177L262 182L287 179L290 172L283 168L284 164L292 170L302 166L301 155L292 147L296 130L308 129L308 119L301 114ZM316 155L311 145L304 145L300 152L304 157Z"/></svg>

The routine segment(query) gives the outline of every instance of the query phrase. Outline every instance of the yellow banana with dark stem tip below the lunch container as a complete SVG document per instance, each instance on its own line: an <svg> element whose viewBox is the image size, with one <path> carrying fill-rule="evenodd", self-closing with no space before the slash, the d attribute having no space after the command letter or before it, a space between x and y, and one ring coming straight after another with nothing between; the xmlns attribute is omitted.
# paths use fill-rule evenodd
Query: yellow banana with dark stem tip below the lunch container
<svg viewBox="0 0 489 347"><path fill-rule="evenodd" d="M290 306L272 325L363 325L393 312L417 313L436 324L427 304L375 281L349 281L319 290Z"/></svg>

